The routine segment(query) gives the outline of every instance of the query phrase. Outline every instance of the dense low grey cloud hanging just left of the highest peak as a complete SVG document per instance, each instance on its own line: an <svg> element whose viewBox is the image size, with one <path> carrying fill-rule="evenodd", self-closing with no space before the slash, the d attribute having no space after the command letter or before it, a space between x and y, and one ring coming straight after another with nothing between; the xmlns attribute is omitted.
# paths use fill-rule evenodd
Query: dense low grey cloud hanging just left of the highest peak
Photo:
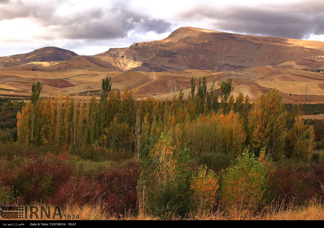
<svg viewBox="0 0 324 228"><path fill-rule="evenodd" d="M92 12L92 16L90 13L86 15L74 18L73 21L64 21L53 31L61 33L64 38L107 39L125 37L131 29L139 33L163 33L171 26L163 20L150 19L121 8L108 12L99 10L97 13Z"/></svg>

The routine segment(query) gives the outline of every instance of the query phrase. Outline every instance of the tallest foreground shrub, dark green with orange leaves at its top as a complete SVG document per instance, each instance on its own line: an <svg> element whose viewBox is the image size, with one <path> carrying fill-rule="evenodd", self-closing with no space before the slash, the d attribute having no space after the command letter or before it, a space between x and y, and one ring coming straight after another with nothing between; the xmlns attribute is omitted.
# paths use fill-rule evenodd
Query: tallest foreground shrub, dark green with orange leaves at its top
<svg viewBox="0 0 324 228"><path fill-rule="evenodd" d="M191 193L190 165L180 159L176 148L171 146L169 135L162 134L150 152L149 140L142 144L144 146L139 149L142 172L137 185L140 210L154 215L188 212L191 208L188 200ZM183 151L180 154L188 153Z"/></svg>

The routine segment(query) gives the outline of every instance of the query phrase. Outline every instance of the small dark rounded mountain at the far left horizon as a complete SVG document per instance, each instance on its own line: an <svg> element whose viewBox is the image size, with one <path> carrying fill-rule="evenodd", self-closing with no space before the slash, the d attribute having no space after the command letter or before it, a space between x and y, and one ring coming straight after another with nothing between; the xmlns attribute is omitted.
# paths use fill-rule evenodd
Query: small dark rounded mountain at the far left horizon
<svg viewBox="0 0 324 228"><path fill-rule="evenodd" d="M73 51L56 47L45 47L25 54L0 57L0 67L12 67L32 62L64 61L74 56L78 56L78 54Z"/></svg>

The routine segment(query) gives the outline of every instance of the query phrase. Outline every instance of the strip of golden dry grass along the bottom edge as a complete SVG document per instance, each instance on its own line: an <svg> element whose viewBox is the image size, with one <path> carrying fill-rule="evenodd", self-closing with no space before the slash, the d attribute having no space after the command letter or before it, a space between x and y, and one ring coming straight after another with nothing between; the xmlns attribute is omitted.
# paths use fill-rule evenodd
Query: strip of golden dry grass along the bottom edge
<svg viewBox="0 0 324 228"><path fill-rule="evenodd" d="M44 204L34 205L40 206ZM52 206L51 213L53 211L54 207ZM226 212L219 207L214 213L202 211L195 215L189 212L184 217L171 213L157 217L143 213L137 214L130 209L125 209L122 214L115 213L111 215L103 212L102 207L99 205L73 205L64 208L62 214L78 214L79 219L75 220L324 220L324 203L321 196L310 200L304 206L293 206L292 204L285 204L284 200L280 202L278 200L273 201L270 206L264 208L261 212L249 210ZM38 215L40 217L40 212L38 212Z"/></svg>

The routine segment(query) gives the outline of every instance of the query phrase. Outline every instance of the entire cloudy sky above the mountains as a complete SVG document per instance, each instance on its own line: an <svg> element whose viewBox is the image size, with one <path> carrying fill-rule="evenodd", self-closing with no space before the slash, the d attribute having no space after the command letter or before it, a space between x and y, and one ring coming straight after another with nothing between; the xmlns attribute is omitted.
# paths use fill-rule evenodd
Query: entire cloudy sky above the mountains
<svg viewBox="0 0 324 228"><path fill-rule="evenodd" d="M0 0L0 56L48 46L94 55L184 26L324 41L324 1Z"/></svg>

